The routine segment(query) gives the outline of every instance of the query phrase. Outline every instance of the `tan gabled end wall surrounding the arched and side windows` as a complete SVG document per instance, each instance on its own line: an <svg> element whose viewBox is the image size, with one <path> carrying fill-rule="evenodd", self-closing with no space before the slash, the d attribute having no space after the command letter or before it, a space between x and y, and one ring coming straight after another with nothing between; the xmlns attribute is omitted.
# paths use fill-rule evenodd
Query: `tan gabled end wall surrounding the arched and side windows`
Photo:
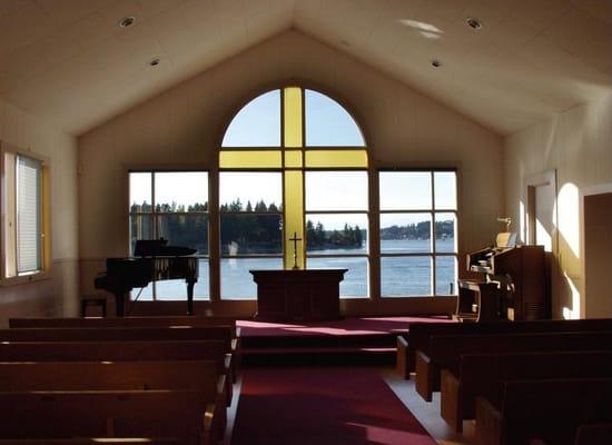
<svg viewBox="0 0 612 445"><path fill-rule="evenodd" d="M375 166L454 166L461 175L460 269L503 214L502 138L302 33L273 38L79 138L81 288L128 250L127 170L215 168L228 119L246 99L295 81L329 93L363 126Z"/></svg>

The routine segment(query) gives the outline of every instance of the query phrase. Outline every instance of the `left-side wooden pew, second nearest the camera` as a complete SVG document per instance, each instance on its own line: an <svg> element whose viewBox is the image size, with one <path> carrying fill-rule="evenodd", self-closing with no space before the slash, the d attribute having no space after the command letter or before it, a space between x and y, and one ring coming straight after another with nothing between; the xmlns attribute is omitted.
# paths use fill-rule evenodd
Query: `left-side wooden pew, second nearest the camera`
<svg viewBox="0 0 612 445"><path fill-rule="evenodd" d="M225 432L227 372L219 360L0 363L0 392L189 389L215 403Z"/></svg>

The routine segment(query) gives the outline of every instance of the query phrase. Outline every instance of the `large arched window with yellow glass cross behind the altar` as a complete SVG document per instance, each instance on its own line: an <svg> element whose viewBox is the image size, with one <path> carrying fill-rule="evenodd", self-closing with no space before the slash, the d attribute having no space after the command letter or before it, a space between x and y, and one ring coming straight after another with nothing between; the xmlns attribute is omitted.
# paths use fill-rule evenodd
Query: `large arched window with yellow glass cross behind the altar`
<svg viewBox="0 0 612 445"><path fill-rule="evenodd" d="M294 266L347 268L340 295L366 297L367 167L359 127L328 96L292 86L243 107L219 150L221 298L255 297L249 269Z"/></svg>

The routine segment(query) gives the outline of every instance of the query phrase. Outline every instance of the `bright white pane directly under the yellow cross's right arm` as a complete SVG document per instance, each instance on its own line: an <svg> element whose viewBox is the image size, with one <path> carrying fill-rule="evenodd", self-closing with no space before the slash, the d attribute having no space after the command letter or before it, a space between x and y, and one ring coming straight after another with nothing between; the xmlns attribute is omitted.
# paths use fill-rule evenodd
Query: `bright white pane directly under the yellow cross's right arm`
<svg viewBox="0 0 612 445"><path fill-rule="evenodd" d="M306 171L306 210L367 210L367 171Z"/></svg>

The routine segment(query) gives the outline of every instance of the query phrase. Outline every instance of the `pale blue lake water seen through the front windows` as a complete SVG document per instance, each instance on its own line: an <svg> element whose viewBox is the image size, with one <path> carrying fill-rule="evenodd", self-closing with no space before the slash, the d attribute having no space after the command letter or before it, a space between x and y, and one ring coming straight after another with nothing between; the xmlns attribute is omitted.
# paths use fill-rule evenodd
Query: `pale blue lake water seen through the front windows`
<svg viewBox="0 0 612 445"><path fill-rule="evenodd" d="M436 279L432 284L433 265L430 257L397 257L385 254L427 253L428 240L393 239L381 241L381 283L382 295L386 297L405 297L432 295L432 286L436 295L450 295L451 284L456 293L456 260L454 256L437 257L435 260ZM355 254L359 249L316 250L313 254ZM436 251L453 253L454 239L437 239ZM244 258L221 259L221 298L255 299L257 288L253 281L250 269L279 269L280 258ZM367 258L308 258L308 268L346 268L348 271L340 283L340 295L345 297L367 298ZM152 298L150 284L142 289L141 300ZM155 283L157 299L186 299L187 286L184 280L167 280ZM132 298L138 293L132 291ZM199 280L196 284L196 299L208 299L208 261L199 261Z"/></svg>

